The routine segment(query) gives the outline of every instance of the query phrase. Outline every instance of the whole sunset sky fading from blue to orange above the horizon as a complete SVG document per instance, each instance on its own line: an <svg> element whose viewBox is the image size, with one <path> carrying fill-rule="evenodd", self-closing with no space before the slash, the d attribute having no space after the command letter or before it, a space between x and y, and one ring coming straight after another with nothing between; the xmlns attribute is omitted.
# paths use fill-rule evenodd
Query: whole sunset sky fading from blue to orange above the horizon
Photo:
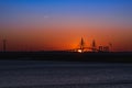
<svg viewBox="0 0 132 88"><path fill-rule="evenodd" d="M132 51L132 0L0 0L0 51L53 51L112 43Z"/></svg>

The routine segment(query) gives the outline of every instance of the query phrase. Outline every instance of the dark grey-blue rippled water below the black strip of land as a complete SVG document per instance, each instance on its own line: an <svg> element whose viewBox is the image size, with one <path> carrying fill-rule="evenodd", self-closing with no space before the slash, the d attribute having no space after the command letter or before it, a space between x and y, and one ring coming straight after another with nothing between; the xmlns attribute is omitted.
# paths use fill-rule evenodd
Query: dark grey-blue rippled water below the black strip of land
<svg viewBox="0 0 132 88"><path fill-rule="evenodd" d="M0 88L132 88L132 64L0 61Z"/></svg>

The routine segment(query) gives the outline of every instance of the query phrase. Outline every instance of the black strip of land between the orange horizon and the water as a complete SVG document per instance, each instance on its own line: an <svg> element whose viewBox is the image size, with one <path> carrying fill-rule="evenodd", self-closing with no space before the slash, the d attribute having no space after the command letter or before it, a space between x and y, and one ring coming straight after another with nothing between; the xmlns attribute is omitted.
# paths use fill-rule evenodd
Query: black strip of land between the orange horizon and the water
<svg viewBox="0 0 132 88"><path fill-rule="evenodd" d="M0 52L0 59L132 63L132 52Z"/></svg>

